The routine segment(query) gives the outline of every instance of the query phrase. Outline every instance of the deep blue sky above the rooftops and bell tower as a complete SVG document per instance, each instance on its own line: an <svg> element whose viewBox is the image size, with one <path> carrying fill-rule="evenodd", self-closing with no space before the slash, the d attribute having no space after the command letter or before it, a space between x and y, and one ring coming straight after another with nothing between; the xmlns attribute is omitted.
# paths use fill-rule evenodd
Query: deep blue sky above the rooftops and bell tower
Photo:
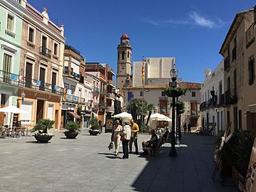
<svg viewBox="0 0 256 192"><path fill-rule="evenodd" d="M28 0L52 21L65 24L67 43L87 62L109 63L116 73L117 45L127 33L132 61L175 57L179 78L202 82L220 63L220 46L238 11L255 0Z"/></svg>

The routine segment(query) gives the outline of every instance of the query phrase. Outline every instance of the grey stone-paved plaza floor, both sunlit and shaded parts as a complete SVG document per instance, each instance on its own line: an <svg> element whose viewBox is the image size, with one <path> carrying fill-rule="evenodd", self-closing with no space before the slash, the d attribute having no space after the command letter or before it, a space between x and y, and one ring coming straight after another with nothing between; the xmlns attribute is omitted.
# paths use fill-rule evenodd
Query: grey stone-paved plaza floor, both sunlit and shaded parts
<svg viewBox="0 0 256 192"><path fill-rule="evenodd" d="M164 144L156 156L120 159L107 149L110 134L82 132L70 140L51 132L55 137L48 144L33 137L0 139L1 192L238 191L232 185L221 187L219 176L215 183L211 180L215 137L183 134L176 158L168 156L170 144ZM139 151L142 140L149 138L139 135Z"/></svg>

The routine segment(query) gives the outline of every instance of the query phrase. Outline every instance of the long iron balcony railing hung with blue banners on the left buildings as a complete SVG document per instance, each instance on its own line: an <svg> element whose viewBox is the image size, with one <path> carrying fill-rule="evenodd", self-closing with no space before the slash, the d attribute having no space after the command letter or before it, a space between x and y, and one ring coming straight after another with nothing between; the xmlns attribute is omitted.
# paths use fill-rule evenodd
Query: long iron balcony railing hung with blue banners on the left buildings
<svg viewBox="0 0 256 192"><path fill-rule="evenodd" d="M31 78L23 77L15 73L9 73L4 70L0 70L0 83L6 85L14 85L18 87L27 87L33 90L41 90L46 92L52 92L62 95L64 92L63 87L57 85L51 85L48 82L41 82L41 80L33 80Z"/></svg>

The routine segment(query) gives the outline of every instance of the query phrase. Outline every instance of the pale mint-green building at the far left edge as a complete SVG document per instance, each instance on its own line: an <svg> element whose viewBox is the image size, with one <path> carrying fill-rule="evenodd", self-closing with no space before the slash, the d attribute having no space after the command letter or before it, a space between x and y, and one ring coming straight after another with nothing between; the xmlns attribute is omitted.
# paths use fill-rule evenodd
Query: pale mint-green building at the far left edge
<svg viewBox="0 0 256 192"><path fill-rule="evenodd" d="M0 107L17 105L23 1L0 1ZM0 112L0 125L10 124L10 114Z"/></svg>

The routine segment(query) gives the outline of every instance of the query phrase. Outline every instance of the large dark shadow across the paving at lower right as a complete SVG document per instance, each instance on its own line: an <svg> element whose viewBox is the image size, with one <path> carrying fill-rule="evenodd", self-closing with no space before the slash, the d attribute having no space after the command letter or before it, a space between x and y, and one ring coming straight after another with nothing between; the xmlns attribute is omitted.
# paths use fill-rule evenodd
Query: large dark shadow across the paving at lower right
<svg viewBox="0 0 256 192"><path fill-rule="evenodd" d="M142 156L148 163L132 183L134 191L221 191L237 192L232 186L221 187L220 174L211 179L214 169L215 137L184 136L176 147L177 157L169 157L171 144L160 147L158 154Z"/></svg>

